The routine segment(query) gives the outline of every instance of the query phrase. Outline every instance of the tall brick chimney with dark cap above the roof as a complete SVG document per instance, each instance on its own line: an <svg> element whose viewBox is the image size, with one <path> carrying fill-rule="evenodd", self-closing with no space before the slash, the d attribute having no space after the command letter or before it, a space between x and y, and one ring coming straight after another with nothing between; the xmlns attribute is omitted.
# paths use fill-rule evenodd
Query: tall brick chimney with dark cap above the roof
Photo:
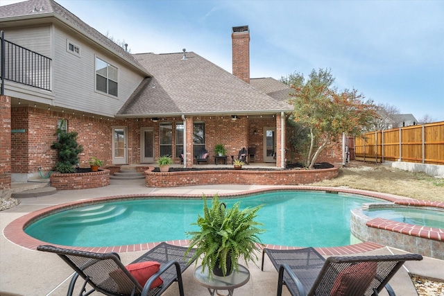
<svg viewBox="0 0 444 296"><path fill-rule="evenodd" d="M232 28L233 75L250 84L250 31L248 26Z"/></svg>

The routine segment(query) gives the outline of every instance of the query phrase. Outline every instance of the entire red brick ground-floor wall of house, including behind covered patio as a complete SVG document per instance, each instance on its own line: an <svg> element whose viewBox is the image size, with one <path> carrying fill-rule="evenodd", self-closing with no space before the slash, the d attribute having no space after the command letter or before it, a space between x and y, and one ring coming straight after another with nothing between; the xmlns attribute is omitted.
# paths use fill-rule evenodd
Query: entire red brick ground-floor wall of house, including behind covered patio
<svg viewBox="0 0 444 296"><path fill-rule="evenodd" d="M58 119L67 120L69 132L78 132L77 141L83 146L83 153L80 153L81 167L89 166L88 161L92 156L103 159L104 165L112 164L112 126L128 127L128 164L140 163L140 130L144 127L153 128L155 134L155 159L159 155L158 133L159 124L162 120L157 123L154 123L151 119L108 121L100 119L100 116L92 118L82 116L82 114L55 112L28 106L13 107L11 109L11 116L11 128L13 130L25 131L13 133L12 136L10 132L6 133L6 137L9 135L11 139L11 173L36 173L39 167L42 168L42 171L53 170L56 166L57 155L56 150L51 149L51 145L56 141L55 133ZM187 118L187 166L193 165L192 139L194 122L205 122L205 148L210 153L208 162L214 163L214 146L218 143L225 145L227 155L234 155L235 157L241 148L255 147L256 160L257 162L262 162L264 157L264 146L262 143L264 127L274 127L277 125L279 129L280 119L278 117L246 118L246 116L239 116L239 119L233 121L228 114ZM182 119L180 116L165 118L163 122L171 122L173 125L172 153L176 155L175 127L177 122L182 122ZM278 132L276 134L278 135ZM286 132L286 134L288 133ZM277 138L277 141L279 148L280 138ZM286 141L286 144L288 145L288 141ZM6 151L1 149L1 153L7 153ZM289 159L289 153L287 153L286 157ZM319 158L319 162L341 163L341 157L341 143L338 143L335 148L327 148ZM175 162L179 163L180 159L175 158ZM228 157L228 162L230 162L230 157Z"/></svg>

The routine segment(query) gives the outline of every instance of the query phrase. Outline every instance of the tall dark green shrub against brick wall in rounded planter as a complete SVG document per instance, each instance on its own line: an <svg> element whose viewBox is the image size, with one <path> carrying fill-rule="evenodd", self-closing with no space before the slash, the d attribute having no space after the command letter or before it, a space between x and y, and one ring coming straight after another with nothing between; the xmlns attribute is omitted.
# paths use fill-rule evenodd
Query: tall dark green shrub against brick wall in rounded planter
<svg viewBox="0 0 444 296"><path fill-rule="evenodd" d="M77 132L67 132L60 128L57 129L56 135L58 141L51 145L52 149L57 150L56 171L59 173L75 173L74 166L78 164L78 155L82 153L83 146L77 143Z"/></svg>

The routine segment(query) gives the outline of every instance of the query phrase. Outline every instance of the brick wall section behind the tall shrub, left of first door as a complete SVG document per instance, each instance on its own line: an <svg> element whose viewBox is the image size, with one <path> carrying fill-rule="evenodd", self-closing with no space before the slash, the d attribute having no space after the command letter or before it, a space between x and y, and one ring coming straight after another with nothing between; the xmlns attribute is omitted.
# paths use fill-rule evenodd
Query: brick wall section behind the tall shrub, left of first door
<svg viewBox="0 0 444 296"><path fill-rule="evenodd" d="M111 127L121 124L119 121L26 106L13 107L11 115L12 129L25 131L13 133L11 137L12 173L33 173L39 167L42 171L53 170L57 152L51 149L51 145L57 141L58 119L67 120L69 132L78 132L77 142L83 146L83 153L79 155L81 167L88 167L92 156L103 159L105 164L112 162Z"/></svg>

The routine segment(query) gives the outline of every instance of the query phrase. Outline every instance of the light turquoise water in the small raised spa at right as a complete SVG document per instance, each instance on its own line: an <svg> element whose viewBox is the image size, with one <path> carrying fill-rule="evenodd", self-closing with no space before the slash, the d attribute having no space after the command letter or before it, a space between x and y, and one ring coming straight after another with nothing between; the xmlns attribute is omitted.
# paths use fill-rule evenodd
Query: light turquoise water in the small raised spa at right
<svg viewBox="0 0 444 296"><path fill-rule="evenodd" d="M413 207L384 207L363 211L370 218L386 218L396 222L444 229L444 211Z"/></svg>

